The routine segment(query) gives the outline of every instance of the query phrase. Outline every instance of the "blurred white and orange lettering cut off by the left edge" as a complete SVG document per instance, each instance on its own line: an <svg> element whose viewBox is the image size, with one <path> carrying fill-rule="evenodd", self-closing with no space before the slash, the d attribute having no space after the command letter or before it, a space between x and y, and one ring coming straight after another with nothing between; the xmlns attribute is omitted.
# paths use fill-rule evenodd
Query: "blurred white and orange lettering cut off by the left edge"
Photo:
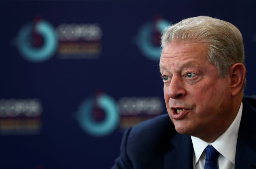
<svg viewBox="0 0 256 169"><path fill-rule="evenodd" d="M0 99L1 135L36 135L41 130L38 99Z"/></svg>

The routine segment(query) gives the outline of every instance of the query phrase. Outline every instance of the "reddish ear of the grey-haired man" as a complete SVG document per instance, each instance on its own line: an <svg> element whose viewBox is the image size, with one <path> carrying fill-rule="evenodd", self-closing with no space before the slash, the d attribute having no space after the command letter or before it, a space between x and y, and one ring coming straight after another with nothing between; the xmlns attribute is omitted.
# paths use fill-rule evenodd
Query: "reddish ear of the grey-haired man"
<svg viewBox="0 0 256 169"><path fill-rule="evenodd" d="M243 63L235 63L229 68L231 79L230 88L232 96L236 96L243 88L246 69Z"/></svg>

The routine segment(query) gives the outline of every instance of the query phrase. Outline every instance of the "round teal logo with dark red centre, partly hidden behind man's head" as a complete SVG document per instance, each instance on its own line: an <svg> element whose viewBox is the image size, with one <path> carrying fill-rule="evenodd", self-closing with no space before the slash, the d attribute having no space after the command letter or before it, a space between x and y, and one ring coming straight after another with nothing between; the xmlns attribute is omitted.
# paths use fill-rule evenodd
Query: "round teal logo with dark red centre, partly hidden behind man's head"
<svg viewBox="0 0 256 169"><path fill-rule="evenodd" d="M158 61L161 55L161 32L170 25L170 22L156 16L154 22L147 22L140 27L135 38L141 53L148 59Z"/></svg>

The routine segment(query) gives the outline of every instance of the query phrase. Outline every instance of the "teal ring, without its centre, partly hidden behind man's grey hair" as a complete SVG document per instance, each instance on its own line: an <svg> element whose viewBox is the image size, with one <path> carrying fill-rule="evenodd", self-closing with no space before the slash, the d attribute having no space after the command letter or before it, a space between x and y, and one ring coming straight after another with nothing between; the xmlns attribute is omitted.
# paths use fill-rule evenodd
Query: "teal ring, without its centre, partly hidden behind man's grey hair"
<svg viewBox="0 0 256 169"><path fill-rule="evenodd" d="M156 29L162 32L170 23L164 19L159 19L156 22ZM138 45L141 53L148 59L158 61L161 55L161 47L154 45L152 41L154 23L148 22L141 26L139 33L136 37L136 44Z"/></svg>

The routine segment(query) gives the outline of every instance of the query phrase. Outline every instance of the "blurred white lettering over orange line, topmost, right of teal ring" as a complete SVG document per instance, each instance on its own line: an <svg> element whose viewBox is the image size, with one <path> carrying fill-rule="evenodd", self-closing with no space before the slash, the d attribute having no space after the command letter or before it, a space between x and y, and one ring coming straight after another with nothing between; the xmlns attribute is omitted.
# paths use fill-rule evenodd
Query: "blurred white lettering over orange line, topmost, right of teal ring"
<svg viewBox="0 0 256 169"><path fill-rule="evenodd" d="M61 24L57 27L62 59L98 58L101 54L102 30L99 24Z"/></svg>

